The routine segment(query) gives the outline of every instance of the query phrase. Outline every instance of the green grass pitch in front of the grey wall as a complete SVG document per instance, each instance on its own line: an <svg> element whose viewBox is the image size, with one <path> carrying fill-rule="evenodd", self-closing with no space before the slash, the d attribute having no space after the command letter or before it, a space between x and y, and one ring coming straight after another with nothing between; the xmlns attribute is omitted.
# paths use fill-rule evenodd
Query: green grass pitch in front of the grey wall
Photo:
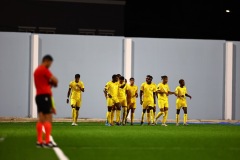
<svg viewBox="0 0 240 160"><path fill-rule="evenodd" d="M112 126L54 122L52 136L70 160L239 160L240 126ZM1 160L57 160L36 148L33 122L0 123Z"/></svg>

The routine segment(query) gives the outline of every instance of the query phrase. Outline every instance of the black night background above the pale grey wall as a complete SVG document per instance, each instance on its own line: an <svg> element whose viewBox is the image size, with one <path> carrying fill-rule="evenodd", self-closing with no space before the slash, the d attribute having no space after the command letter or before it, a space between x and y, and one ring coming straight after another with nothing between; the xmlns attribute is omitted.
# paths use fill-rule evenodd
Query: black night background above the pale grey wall
<svg viewBox="0 0 240 160"><path fill-rule="evenodd" d="M78 34L78 28L89 28L114 30L115 36L126 37L240 40L239 0L122 2L125 5L8 1L1 5L0 31L34 26Z"/></svg>

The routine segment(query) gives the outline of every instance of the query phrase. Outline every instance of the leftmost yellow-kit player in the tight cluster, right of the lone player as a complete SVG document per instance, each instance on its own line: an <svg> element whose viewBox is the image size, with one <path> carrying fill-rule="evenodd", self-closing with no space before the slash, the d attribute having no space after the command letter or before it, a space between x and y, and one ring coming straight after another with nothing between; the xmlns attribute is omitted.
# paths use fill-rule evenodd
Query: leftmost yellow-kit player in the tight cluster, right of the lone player
<svg viewBox="0 0 240 160"><path fill-rule="evenodd" d="M113 120L112 120L112 108L116 106L117 111L116 111L116 118L120 119L120 111L121 111L121 106L119 104L118 100L118 77L116 74L112 76L112 81L108 82L105 85L105 93L107 94L107 108L108 108L108 126L112 126Z"/></svg>

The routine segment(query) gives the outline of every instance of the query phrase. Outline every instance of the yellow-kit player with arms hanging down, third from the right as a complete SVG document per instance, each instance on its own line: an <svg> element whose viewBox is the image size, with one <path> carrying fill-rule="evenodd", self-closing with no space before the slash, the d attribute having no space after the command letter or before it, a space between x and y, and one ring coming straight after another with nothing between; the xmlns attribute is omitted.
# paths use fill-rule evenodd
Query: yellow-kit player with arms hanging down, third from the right
<svg viewBox="0 0 240 160"><path fill-rule="evenodd" d="M140 89L140 104L142 105L142 119L141 125L143 125L144 115L147 111L147 121L148 125L151 124L150 121L150 110L154 108L154 103L156 103L155 99L156 87L152 84L152 76L147 75L146 82L141 84Z"/></svg>

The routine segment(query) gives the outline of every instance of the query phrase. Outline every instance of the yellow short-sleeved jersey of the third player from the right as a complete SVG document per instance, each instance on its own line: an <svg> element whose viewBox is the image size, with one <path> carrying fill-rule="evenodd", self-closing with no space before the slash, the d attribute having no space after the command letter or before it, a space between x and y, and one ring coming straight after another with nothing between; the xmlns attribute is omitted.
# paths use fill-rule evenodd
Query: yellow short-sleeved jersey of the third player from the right
<svg viewBox="0 0 240 160"><path fill-rule="evenodd" d="M153 101L153 93L156 92L156 87L154 84L142 83L141 91L143 91L143 101Z"/></svg>

